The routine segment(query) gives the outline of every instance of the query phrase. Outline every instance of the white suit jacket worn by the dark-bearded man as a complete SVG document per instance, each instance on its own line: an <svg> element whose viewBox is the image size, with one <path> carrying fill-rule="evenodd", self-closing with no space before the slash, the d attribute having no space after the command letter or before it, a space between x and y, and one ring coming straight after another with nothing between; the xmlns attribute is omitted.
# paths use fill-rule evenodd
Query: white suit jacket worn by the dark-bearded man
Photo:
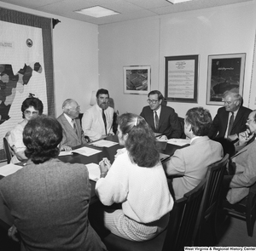
<svg viewBox="0 0 256 251"><path fill-rule="evenodd" d="M107 122L107 134L113 134L113 108L108 106L104 113ZM84 134L88 136L90 140L99 140L102 138L102 135L106 135L102 118L102 108L96 104L86 110L82 118L82 126Z"/></svg>

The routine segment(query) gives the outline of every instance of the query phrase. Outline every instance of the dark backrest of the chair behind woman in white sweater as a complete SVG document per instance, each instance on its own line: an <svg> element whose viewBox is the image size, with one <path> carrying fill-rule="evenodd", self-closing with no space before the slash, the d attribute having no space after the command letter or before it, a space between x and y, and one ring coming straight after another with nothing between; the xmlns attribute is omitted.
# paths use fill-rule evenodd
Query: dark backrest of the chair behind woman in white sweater
<svg viewBox="0 0 256 251"><path fill-rule="evenodd" d="M198 216L201 199L205 190L206 179L201 180L192 191L178 199L170 213L163 251L183 250L192 244L195 221Z"/></svg>

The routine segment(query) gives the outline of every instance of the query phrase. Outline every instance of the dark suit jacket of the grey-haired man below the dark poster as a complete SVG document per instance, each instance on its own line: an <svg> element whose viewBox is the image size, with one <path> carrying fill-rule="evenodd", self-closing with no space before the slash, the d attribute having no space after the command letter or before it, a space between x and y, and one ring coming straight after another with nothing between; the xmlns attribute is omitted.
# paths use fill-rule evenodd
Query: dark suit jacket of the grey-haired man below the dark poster
<svg viewBox="0 0 256 251"><path fill-rule="evenodd" d="M241 106L237 111L235 121L233 123L233 128L230 132L231 135L239 134L247 129L247 117L252 112L251 109ZM217 115L214 117L212 122L212 127L208 134L210 139L214 139L216 136L218 138L224 138L226 129L228 127L229 121L229 111L225 110L225 107L218 109Z"/></svg>

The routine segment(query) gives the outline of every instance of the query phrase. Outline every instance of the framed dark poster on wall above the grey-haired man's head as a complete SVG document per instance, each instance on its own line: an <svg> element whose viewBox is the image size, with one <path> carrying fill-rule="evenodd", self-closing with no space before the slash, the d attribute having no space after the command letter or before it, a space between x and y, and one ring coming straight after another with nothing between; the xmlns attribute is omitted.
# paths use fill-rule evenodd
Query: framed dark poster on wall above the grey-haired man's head
<svg viewBox="0 0 256 251"><path fill-rule="evenodd" d="M245 53L208 56L207 105L223 106L227 90L242 96L245 59Z"/></svg>

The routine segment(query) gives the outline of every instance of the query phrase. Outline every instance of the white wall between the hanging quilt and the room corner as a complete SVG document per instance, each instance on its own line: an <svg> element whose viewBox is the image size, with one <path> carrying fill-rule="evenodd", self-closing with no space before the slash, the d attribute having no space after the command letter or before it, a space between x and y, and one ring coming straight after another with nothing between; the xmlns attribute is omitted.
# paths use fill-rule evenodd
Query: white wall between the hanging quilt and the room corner
<svg viewBox="0 0 256 251"><path fill-rule="evenodd" d="M61 20L53 30L56 116L67 98L77 100L84 112L92 90L99 87L98 26L9 3L0 2L0 7Z"/></svg>

